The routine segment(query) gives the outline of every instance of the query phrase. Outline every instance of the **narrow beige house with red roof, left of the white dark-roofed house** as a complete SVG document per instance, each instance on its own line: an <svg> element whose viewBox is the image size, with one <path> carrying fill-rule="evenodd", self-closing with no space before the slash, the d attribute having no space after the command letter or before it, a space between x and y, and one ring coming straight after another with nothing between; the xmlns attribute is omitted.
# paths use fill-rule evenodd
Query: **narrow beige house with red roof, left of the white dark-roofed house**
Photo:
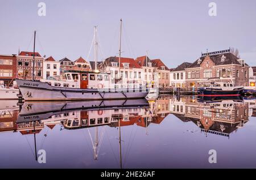
<svg viewBox="0 0 256 180"><path fill-rule="evenodd" d="M156 67L156 72L158 72L158 83L159 88L167 88L170 84L170 70L164 65L160 59L151 60L153 66Z"/></svg>

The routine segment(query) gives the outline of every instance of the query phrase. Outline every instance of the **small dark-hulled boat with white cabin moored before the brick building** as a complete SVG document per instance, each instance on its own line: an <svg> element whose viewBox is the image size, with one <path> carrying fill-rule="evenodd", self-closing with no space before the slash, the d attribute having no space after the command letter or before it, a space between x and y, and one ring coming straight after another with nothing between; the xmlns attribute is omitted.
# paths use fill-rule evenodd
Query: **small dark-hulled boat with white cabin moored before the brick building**
<svg viewBox="0 0 256 180"><path fill-rule="evenodd" d="M234 86L233 83L212 83L209 87L197 90L199 96L241 96L242 86Z"/></svg>

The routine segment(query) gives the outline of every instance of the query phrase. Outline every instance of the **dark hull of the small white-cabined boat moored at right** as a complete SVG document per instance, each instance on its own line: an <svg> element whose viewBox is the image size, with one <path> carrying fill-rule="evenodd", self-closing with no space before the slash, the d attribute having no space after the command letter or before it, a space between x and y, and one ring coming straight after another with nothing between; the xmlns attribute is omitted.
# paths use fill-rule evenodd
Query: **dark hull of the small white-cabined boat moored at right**
<svg viewBox="0 0 256 180"><path fill-rule="evenodd" d="M197 93L199 96L241 96L243 88L236 88L229 91L224 91L220 88L200 88Z"/></svg>

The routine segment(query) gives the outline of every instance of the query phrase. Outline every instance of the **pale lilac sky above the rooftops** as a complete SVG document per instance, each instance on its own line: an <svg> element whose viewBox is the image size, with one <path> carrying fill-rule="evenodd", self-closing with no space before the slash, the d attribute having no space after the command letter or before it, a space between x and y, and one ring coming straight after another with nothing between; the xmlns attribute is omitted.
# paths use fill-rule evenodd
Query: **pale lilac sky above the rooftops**
<svg viewBox="0 0 256 180"><path fill-rule="evenodd" d="M38 3L46 3L46 16ZM209 16L210 2L217 16ZM193 62L201 52L240 50L241 58L256 66L255 0L99 1L0 0L0 54L36 51L59 60L88 56L93 27L98 26L99 59L118 55L119 19L123 19L122 57L146 54L168 67ZM93 49L89 61L93 60Z"/></svg>

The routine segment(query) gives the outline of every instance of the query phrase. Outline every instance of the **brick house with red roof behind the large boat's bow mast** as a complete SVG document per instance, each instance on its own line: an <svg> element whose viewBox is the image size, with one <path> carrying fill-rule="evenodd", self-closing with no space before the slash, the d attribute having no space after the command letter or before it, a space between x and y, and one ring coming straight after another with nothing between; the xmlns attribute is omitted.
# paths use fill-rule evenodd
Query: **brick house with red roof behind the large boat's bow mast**
<svg viewBox="0 0 256 180"><path fill-rule="evenodd" d="M33 74L33 52L20 52L17 58L17 78L32 80ZM44 58L35 52L35 64L34 64L34 79L40 80L43 78L43 60Z"/></svg>

